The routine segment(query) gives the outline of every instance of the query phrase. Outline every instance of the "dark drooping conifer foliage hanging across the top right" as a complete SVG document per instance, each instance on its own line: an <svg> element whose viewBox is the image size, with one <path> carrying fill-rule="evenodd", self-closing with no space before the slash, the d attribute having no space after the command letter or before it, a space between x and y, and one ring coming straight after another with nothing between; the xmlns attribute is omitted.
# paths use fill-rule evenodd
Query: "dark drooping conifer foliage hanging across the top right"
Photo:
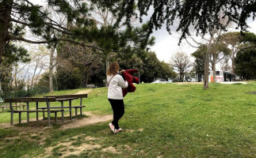
<svg viewBox="0 0 256 158"><path fill-rule="evenodd" d="M139 17L140 22L142 22L143 16L147 16L149 9L153 7L154 11L150 16L148 24L150 31L147 37L149 37L153 28L162 28L162 24L166 24L166 30L171 33L171 26L174 25L176 19L179 19L176 31L181 31L180 42L190 34L189 27L191 25L197 30L197 33L204 35L216 28L224 30L230 21L234 21L244 31L247 28L246 20L251 16L250 13L255 12L256 7L256 2L247 2L246 0L93 0L92 2L111 8L118 17L117 25L121 23L122 19L124 19L124 24L130 25L132 16ZM224 15L221 15L222 17L228 17L227 23L221 23L220 12L224 13ZM252 14L252 16L255 17L255 14Z"/></svg>

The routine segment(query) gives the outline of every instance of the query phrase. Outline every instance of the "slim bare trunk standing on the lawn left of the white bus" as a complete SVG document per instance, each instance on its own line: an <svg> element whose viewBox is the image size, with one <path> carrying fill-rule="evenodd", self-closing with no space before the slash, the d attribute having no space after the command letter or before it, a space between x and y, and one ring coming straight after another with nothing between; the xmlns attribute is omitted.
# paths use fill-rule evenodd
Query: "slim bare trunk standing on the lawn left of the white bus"
<svg viewBox="0 0 256 158"><path fill-rule="evenodd" d="M209 61L210 61L210 49L212 44L213 36L211 35L210 42L207 47L205 62L204 62L204 88L209 88Z"/></svg>

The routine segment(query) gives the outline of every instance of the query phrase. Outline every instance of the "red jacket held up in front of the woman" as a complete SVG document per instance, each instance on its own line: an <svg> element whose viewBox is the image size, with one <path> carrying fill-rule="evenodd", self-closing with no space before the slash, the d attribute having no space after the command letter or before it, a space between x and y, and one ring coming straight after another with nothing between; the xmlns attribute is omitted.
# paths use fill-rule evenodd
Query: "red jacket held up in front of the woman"
<svg viewBox="0 0 256 158"><path fill-rule="evenodd" d="M132 76L133 73L138 72L138 70L125 70L123 73L124 80L128 81L128 87L123 88L123 96L128 92L135 92L136 86L132 83L139 84L139 78Z"/></svg>

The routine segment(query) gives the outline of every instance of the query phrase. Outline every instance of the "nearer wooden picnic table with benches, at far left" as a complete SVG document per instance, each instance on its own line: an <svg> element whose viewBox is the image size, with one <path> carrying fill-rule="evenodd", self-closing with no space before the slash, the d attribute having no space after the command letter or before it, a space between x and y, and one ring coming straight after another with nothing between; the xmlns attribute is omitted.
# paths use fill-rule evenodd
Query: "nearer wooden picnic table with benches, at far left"
<svg viewBox="0 0 256 158"><path fill-rule="evenodd" d="M29 113L36 112L36 120L38 120L38 112L47 112L48 113L48 126L50 126L50 119L51 119L51 113L55 113L55 122L57 119L57 112L61 112L63 110L51 110L50 109L50 103L55 102L55 98L52 97L43 97L43 98L6 98L4 100L5 103L10 103L10 124L13 125L13 114L18 113L19 114L19 123L21 123L21 113L25 112L27 113L27 122L29 122ZM14 110L12 103L26 103L26 110ZM29 103L36 103L36 110L29 110ZM44 102L46 103L47 110L39 110L38 109L38 103Z"/></svg>

